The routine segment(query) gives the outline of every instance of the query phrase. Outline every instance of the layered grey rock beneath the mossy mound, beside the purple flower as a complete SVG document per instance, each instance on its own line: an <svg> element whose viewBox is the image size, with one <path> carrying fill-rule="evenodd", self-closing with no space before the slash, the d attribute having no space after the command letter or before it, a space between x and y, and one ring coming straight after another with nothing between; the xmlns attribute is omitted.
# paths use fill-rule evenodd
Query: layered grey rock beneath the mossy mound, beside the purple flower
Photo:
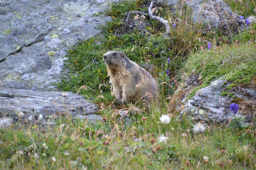
<svg viewBox="0 0 256 170"><path fill-rule="evenodd" d="M232 91L237 97L236 100L233 100L230 97L220 96L220 93L226 87L226 85L223 85L225 81L220 79L213 81L211 85L199 89L194 97L187 102L186 98L184 98L182 103L186 108L181 114L187 113L195 119L222 123L234 117L229 105L235 102L239 104L236 117L244 116L245 121L251 120L252 106L256 104L256 89L237 87Z"/></svg>

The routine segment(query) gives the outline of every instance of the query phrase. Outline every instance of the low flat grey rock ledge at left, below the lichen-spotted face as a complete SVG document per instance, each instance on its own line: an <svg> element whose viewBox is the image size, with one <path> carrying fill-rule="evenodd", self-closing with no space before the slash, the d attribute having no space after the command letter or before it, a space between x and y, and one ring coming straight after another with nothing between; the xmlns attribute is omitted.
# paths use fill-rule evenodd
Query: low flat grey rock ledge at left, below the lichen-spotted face
<svg viewBox="0 0 256 170"><path fill-rule="evenodd" d="M101 119L101 116L93 115L94 112L98 112L98 107L93 103L86 101L79 94L65 93L66 97L63 97L62 92L0 88L0 115L12 115L14 120L18 120L17 114L20 112L25 114L25 118L30 115L35 115L37 118L39 114L42 114L44 119L46 119L45 116L51 117L62 113L71 114L75 118L84 118L84 115L89 115L88 119Z"/></svg>

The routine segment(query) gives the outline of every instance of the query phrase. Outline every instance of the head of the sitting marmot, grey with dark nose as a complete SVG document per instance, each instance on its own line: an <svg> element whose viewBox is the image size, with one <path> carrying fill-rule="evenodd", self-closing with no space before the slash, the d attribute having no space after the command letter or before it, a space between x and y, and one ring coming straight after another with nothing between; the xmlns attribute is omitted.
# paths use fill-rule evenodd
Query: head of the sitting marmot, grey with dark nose
<svg viewBox="0 0 256 170"><path fill-rule="evenodd" d="M111 66L111 65L122 65L124 63L125 54L121 51L108 51L103 55L104 62Z"/></svg>

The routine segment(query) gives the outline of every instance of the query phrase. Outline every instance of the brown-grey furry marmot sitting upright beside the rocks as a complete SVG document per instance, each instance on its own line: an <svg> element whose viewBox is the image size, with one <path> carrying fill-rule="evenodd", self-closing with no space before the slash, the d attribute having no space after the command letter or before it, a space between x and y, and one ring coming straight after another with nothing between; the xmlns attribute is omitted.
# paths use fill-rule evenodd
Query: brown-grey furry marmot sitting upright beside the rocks
<svg viewBox="0 0 256 170"><path fill-rule="evenodd" d="M107 64L110 83L113 85L113 93L116 100L121 102L152 100L159 90L156 80L152 75L132 62L121 51L109 51L103 55Z"/></svg>

